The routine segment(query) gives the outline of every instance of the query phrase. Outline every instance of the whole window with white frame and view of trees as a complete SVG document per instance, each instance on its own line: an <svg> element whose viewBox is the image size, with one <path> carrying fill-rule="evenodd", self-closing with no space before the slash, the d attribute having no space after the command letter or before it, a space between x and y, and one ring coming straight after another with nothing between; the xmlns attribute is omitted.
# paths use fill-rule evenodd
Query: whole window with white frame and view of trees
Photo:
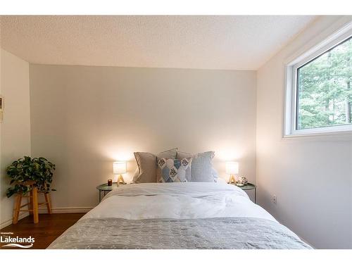
<svg viewBox="0 0 352 264"><path fill-rule="evenodd" d="M285 135L352 131L351 27L287 65Z"/></svg>

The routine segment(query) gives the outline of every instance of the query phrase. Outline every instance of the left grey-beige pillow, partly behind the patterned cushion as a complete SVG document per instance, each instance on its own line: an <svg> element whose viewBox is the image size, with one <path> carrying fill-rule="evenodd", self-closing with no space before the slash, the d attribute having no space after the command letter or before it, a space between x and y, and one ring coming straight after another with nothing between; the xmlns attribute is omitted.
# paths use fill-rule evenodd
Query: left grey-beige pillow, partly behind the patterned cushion
<svg viewBox="0 0 352 264"><path fill-rule="evenodd" d="M169 149L158 153L161 158L176 158L177 149ZM134 152L138 173L134 175L133 183L156 182L156 155L149 152Z"/></svg>

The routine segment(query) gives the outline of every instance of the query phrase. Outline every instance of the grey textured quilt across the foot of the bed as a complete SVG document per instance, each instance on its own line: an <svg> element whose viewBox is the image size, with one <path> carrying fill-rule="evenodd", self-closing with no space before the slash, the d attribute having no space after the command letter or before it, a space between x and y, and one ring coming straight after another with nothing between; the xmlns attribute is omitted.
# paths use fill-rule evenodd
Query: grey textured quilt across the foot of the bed
<svg viewBox="0 0 352 264"><path fill-rule="evenodd" d="M82 219L48 249L311 249L260 218Z"/></svg>

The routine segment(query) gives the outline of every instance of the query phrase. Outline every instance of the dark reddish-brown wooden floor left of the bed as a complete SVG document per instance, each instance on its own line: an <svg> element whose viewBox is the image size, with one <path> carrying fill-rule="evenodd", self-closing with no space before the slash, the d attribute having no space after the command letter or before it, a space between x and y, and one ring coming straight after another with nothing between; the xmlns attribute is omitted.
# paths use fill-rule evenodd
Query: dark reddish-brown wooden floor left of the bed
<svg viewBox="0 0 352 264"><path fill-rule="evenodd" d="M57 237L59 237L71 225L75 224L77 220L82 218L84 213L54 213L52 215L40 214L39 223L34 224L30 216L19 220L16 225L8 225L0 232L13 232L11 237L34 237L34 245L31 249L46 249ZM1 246L7 243L1 243ZM4 248L0 249L18 249L18 248Z"/></svg>

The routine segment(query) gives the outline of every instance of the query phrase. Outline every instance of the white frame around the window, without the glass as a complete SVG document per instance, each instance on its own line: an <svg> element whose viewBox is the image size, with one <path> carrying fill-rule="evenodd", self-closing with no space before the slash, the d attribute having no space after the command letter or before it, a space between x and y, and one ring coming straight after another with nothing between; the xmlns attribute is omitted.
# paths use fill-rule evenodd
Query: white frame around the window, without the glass
<svg viewBox="0 0 352 264"><path fill-rule="evenodd" d="M327 39L320 42L320 44L309 49L301 56L298 56L293 61L285 65L285 99L284 99L284 137L295 137L304 135L314 135L314 134L341 134L346 132L351 132L352 134L352 124L351 125L334 125L330 127L315 127L308 129L296 129L297 120L297 69L302 65L313 61L315 58L324 54L325 51L332 49L334 46L341 44L346 39L352 36L352 22L348 23L340 30L330 35ZM348 133L349 134L349 133Z"/></svg>

